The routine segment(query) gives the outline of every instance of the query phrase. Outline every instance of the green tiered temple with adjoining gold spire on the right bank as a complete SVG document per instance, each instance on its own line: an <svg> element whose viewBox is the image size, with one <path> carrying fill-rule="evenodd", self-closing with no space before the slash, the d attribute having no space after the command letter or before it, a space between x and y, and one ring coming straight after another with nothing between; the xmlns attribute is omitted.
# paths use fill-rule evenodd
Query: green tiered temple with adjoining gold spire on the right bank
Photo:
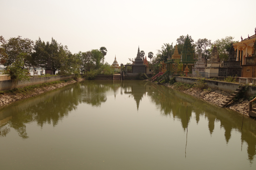
<svg viewBox="0 0 256 170"><path fill-rule="evenodd" d="M174 60L178 59L183 64L182 69L180 70L180 73L183 74L183 71L185 70L186 66L188 66L189 74L192 74L192 68L194 67L195 62L197 61L196 59L194 59L194 53L195 52L193 51L193 47L191 46L191 42L187 35L181 55L179 55L178 53L178 48L176 44L172 58L168 57L167 62L164 63L167 65L166 69L169 70L171 74L173 74L172 72L173 72Z"/></svg>

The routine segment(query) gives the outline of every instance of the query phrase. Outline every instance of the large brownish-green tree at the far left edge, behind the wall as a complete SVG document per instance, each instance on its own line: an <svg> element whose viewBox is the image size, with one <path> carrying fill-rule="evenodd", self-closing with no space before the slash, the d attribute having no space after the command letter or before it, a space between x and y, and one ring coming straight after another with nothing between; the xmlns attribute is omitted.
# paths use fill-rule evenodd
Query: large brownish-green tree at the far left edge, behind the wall
<svg viewBox="0 0 256 170"><path fill-rule="evenodd" d="M28 38L22 39L21 36L17 38L10 38L7 43L3 43L1 46L5 49L5 53L7 55L6 62L4 66L11 65L14 63L21 53L26 54L24 56L24 64L30 65L31 60L31 52L33 49L34 42Z"/></svg>

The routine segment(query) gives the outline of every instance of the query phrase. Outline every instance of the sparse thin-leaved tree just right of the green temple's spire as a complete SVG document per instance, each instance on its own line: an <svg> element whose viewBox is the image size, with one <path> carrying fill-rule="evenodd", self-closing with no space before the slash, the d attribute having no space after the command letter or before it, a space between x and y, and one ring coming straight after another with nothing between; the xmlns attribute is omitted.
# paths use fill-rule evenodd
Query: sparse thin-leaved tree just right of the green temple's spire
<svg viewBox="0 0 256 170"><path fill-rule="evenodd" d="M205 61L211 58L211 50L210 48L212 47L211 40L208 40L206 38L204 39L198 39L196 41L196 52L201 49L202 50L202 56L204 57Z"/></svg>

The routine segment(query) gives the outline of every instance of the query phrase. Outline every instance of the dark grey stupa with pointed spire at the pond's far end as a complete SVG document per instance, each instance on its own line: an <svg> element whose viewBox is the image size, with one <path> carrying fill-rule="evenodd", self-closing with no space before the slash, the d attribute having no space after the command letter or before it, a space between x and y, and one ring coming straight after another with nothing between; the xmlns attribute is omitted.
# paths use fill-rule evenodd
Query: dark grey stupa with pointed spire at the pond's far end
<svg viewBox="0 0 256 170"><path fill-rule="evenodd" d="M127 73L127 66L132 66L132 74L146 73L146 66L144 65L143 59L140 57L140 47L138 48L137 57L134 59L133 64L124 65L125 72Z"/></svg>

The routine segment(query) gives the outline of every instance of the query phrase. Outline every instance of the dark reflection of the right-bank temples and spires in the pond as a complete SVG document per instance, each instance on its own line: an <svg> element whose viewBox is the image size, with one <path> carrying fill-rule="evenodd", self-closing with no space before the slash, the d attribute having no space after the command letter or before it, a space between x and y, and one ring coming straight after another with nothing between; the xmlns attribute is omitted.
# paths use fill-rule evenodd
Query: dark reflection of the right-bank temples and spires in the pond
<svg viewBox="0 0 256 170"><path fill-rule="evenodd" d="M211 136L216 128L215 123L220 122L220 127L225 130L224 138L227 144L231 139L232 130L240 131L241 129L241 125L237 124L237 122L241 122L241 116L234 115L232 111L222 114L222 108L213 105L209 107L209 104L206 102L195 102L194 97L185 93L170 90L162 85L152 84L152 87L154 91L147 91L148 96L151 97L151 100L159 106L159 109L162 110L165 115L172 114L173 119L178 118L184 130L187 127L187 106L188 122L190 122L192 113L195 114L196 123L200 121L200 116L204 115L205 119L208 120L209 134ZM243 130L241 131L241 142L245 142L248 145L248 159L252 163L256 155L256 126L254 120L248 119L246 121L247 123L243 125ZM248 132L248 129L252 131Z"/></svg>

